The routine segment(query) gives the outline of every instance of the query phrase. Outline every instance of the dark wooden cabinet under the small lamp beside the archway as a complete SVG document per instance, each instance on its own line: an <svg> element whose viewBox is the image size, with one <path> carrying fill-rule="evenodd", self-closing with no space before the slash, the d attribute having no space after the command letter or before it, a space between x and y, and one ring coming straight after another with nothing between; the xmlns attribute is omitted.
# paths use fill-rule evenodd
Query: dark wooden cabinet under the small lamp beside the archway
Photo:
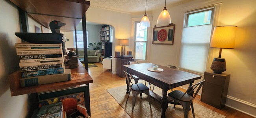
<svg viewBox="0 0 256 118"><path fill-rule="evenodd" d="M127 65L127 62L129 61L134 61L134 59L117 58L117 76L125 77L124 70L126 71L126 69L124 68L124 65Z"/></svg>

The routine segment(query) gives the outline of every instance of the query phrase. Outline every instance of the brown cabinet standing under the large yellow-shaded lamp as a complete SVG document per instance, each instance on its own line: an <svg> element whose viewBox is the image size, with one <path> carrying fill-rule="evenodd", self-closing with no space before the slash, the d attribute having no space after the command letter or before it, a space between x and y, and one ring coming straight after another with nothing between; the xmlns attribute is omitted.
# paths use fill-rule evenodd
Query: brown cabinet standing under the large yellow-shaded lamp
<svg viewBox="0 0 256 118"><path fill-rule="evenodd" d="M218 109L225 107L230 74L206 71L204 79L206 81L203 85L201 101Z"/></svg>

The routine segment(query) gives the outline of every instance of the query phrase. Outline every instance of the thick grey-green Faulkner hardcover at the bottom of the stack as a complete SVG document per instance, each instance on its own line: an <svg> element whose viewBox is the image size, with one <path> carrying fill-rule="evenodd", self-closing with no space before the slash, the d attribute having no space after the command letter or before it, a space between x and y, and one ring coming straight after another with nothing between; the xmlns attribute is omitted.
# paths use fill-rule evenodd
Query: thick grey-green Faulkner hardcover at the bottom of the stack
<svg viewBox="0 0 256 118"><path fill-rule="evenodd" d="M61 81L71 80L71 70L65 69L63 74L52 74L46 76L36 76L36 77L24 77L20 79L21 87L30 87L35 85L43 85L48 83L55 83Z"/></svg>

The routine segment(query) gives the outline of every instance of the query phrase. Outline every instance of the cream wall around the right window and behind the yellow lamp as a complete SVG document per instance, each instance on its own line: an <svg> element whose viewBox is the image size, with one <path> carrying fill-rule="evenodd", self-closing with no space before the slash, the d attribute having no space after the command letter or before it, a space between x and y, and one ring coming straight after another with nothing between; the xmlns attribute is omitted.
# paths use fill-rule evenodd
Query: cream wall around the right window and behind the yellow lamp
<svg viewBox="0 0 256 118"><path fill-rule="evenodd" d="M219 20L215 26L235 25L238 27L235 49L223 49L222 51L222 57L226 59L227 65L224 73L231 74L226 105L256 117L255 0L194 0L178 6L167 6L172 23L175 24L174 44L155 45L151 43L150 63L178 66L184 12L220 2L223 4L221 4ZM152 26L160 26L156 24L160 12L161 9L153 13ZM218 49L210 48L206 70L210 70L212 60L218 56L218 53Z"/></svg>

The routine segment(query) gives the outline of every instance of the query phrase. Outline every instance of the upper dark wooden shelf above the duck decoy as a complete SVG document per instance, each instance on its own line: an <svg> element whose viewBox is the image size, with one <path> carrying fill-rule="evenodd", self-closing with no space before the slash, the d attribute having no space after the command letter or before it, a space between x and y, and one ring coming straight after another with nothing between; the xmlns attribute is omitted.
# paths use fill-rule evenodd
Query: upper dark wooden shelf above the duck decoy
<svg viewBox="0 0 256 118"><path fill-rule="evenodd" d="M10 0L46 28L53 20L66 23L61 30L74 30L90 6L85 0Z"/></svg>

